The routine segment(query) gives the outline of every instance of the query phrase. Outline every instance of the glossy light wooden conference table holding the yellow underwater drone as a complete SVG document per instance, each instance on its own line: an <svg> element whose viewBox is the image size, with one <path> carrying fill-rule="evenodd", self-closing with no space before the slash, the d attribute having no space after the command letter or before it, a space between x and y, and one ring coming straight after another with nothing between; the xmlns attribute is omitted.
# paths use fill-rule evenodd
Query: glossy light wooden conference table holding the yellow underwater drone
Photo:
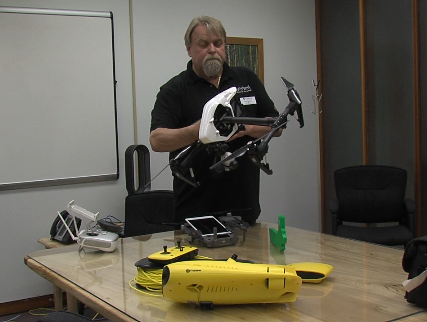
<svg viewBox="0 0 427 322"><path fill-rule="evenodd" d="M322 283L303 283L293 303L201 310L133 290L129 282L137 272L135 262L177 240L188 245L187 236L179 231L124 238L113 253L79 253L77 245L37 251L27 256L26 264L112 321L415 322L415 313L423 312L404 299L401 283L407 274L401 266L402 250L287 227L288 243L280 252L270 244L269 227L277 228L277 224L257 224L235 246L200 246L199 255L219 259L237 254L259 263L323 262L334 266Z"/></svg>

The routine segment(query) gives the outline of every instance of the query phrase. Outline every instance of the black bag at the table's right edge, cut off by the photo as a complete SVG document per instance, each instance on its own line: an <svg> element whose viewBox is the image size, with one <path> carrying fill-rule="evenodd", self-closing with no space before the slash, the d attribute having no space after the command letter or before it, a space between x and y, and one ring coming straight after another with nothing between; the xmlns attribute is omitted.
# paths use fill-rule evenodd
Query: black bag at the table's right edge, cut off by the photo
<svg viewBox="0 0 427 322"><path fill-rule="evenodd" d="M417 277L427 269L427 236L411 240L405 248L402 259L403 270L408 274L408 279ZM427 279L406 292L405 298L409 303L427 308Z"/></svg>

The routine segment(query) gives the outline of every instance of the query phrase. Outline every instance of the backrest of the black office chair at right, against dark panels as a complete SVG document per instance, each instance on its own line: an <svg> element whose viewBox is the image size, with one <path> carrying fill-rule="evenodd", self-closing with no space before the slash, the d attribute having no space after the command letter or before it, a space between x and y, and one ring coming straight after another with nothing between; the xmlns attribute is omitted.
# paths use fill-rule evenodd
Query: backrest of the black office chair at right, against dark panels
<svg viewBox="0 0 427 322"><path fill-rule="evenodd" d="M382 166L351 166L334 172L338 220L358 223L399 222L405 215L407 172Z"/></svg>

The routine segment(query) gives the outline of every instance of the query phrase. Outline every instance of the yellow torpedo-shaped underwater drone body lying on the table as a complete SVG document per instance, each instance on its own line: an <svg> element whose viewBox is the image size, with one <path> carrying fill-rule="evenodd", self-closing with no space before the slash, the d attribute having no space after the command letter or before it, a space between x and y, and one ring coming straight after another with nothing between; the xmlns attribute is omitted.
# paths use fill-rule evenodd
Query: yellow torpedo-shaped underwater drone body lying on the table
<svg viewBox="0 0 427 322"><path fill-rule="evenodd" d="M183 261L163 268L163 296L176 302L213 304L294 302L302 280L285 265Z"/></svg>

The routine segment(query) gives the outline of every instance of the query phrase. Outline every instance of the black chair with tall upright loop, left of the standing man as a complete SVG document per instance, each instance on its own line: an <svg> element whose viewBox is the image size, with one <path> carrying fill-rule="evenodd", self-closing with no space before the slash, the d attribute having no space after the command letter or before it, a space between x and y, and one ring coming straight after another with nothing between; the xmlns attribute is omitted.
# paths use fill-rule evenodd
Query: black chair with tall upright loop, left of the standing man
<svg viewBox="0 0 427 322"><path fill-rule="evenodd" d="M135 162L136 161L136 162ZM175 230L172 190L151 190L150 152L131 145L125 152L126 189L124 237Z"/></svg>

